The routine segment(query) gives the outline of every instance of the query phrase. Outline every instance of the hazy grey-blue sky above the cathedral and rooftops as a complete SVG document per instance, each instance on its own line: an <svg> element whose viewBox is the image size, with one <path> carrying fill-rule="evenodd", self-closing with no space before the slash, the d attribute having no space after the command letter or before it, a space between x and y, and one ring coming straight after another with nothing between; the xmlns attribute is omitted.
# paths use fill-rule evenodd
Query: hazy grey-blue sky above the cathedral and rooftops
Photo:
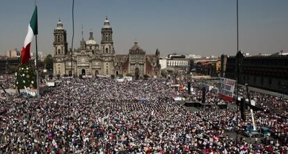
<svg viewBox="0 0 288 154"><path fill-rule="evenodd" d="M72 0L37 0L38 50L53 54L53 31L60 17L72 42ZM288 1L239 0L239 49L256 55L288 51ZM0 55L22 49L34 0L0 1ZM236 0L75 0L74 47L90 30L100 43L108 16L116 54L137 40L146 53L235 55ZM35 39L31 47L35 51Z"/></svg>

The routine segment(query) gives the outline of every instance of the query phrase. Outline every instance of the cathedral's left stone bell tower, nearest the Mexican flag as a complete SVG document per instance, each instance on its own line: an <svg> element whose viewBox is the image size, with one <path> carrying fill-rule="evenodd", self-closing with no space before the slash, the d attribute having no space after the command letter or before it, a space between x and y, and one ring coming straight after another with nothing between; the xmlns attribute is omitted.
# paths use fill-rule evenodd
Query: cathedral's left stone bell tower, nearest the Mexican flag
<svg viewBox="0 0 288 154"><path fill-rule="evenodd" d="M59 19L56 29L54 29L54 55L67 55L67 40L66 30L63 28L63 23Z"/></svg>

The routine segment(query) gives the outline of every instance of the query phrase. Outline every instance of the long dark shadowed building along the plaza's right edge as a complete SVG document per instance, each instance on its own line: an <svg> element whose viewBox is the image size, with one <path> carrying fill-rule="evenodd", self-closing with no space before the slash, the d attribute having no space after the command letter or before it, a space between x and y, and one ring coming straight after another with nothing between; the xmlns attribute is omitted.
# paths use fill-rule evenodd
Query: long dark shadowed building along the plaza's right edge
<svg viewBox="0 0 288 154"><path fill-rule="evenodd" d="M221 76L237 79L239 60L239 83L276 92L288 93L288 53L245 56L221 55Z"/></svg>

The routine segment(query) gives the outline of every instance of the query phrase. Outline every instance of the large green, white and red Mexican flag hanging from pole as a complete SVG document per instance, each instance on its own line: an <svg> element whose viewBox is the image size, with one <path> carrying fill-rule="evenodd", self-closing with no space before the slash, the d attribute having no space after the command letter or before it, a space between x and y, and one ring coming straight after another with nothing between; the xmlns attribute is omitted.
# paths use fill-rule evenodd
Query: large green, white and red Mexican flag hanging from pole
<svg viewBox="0 0 288 154"><path fill-rule="evenodd" d="M28 32L24 40L24 46L22 48L21 52L21 63L22 65L29 62L29 59L31 58L30 55L30 46L31 42L33 40L34 35L38 34L38 21L37 21L37 6L35 6L35 10L33 12L33 15L31 17L29 26L28 26Z"/></svg>

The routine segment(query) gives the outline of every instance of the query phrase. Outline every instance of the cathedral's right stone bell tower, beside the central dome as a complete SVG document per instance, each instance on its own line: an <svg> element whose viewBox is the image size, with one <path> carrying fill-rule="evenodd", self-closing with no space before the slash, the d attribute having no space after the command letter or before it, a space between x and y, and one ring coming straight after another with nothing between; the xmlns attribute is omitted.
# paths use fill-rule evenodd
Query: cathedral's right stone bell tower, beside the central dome
<svg viewBox="0 0 288 154"><path fill-rule="evenodd" d="M101 50L102 53L114 54L113 40L112 40L112 28L110 22L106 17L104 21L104 26L101 29L102 40L101 40Z"/></svg>

